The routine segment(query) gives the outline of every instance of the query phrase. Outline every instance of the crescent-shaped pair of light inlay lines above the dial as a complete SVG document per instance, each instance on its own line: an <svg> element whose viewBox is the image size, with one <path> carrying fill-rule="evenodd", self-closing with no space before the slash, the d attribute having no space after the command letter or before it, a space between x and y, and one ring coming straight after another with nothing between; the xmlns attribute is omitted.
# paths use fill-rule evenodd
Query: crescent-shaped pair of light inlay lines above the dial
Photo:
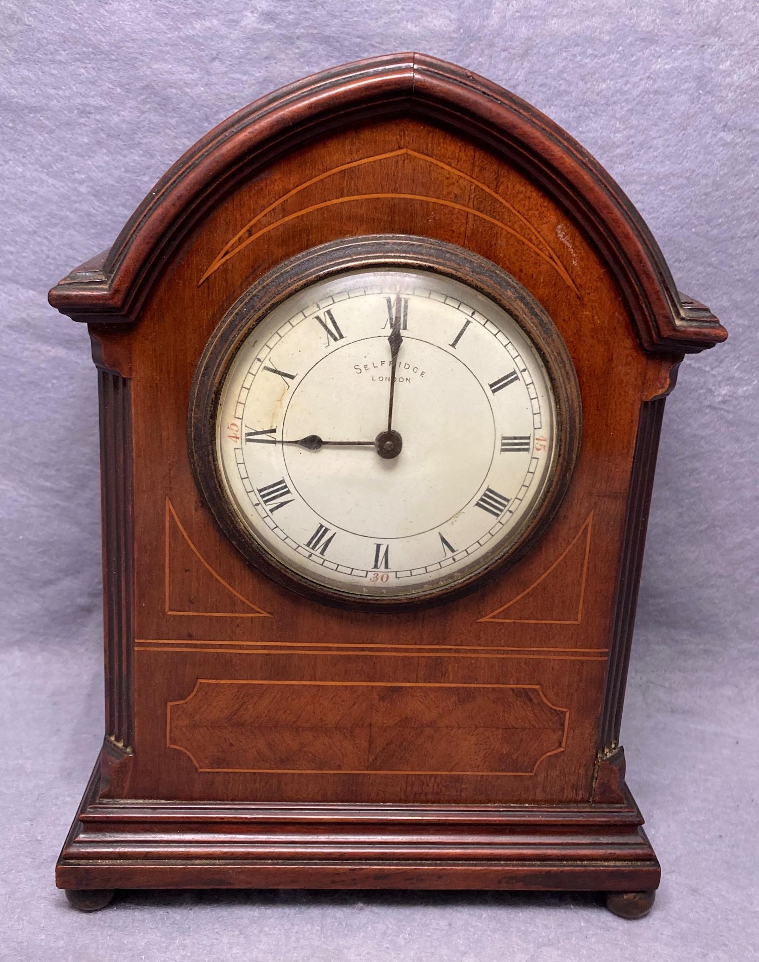
<svg viewBox="0 0 759 962"><path fill-rule="evenodd" d="M512 227L509 227L507 224L504 224L501 220L498 220L495 217L491 217L489 215L482 214L481 212L475 210L474 208L465 207L461 204L455 204L453 203L453 201L446 201L439 197L432 197L432 196L418 195L418 194L405 194L405 193L355 194L354 196L350 196L350 197L334 198L330 201L325 201L324 203L321 203L321 204L311 205L300 211L294 212L291 215L283 216L279 220L275 221L273 224L269 224L266 227L261 228L254 234L249 233L259 220L261 220L267 214L270 214L273 210L275 210L285 201L289 200L291 197L294 197L296 194L300 193L302 190L306 190L312 185L317 184L320 181L327 179L328 177L331 177L333 174L340 173L342 171L350 170L352 168L356 168L356 167L367 165L367 164L374 164L378 161L387 160L388 158L404 157L404 156L412 157L412 158L415 158L416 160L424 161L425 163L440 167L446 172L453 174L453 176L467 181L469 184L472 184L473 186L477 187L479 190L483 190L489 196L493 197L499 204L502 204L502 206L506 210L508 210L509 213L517 217L519 221L523 223L529 231L532 232L533 236L537 238L544 245L545 250L537 246L536 244L532 243L532 241L528 241L523 234L520 234L519 231L515 231ZM289 190L287 193L283 194L282 197L278 198L276 201L274 201L274 203L264 208L264 210L261 211L260 214L257 214L252 220L249 220L248 223L242 228L242 230L238 231L238 233L233 237L233 239L231 241L228 241L224 245L221 251L219 251L216 257L213 259L210 266L208 266L208 270L206 271L206 273L203 275L203 277L201 277L200 281L198 282L198 287L200 287L201 284L203 284L204 281L206 281L208 277L210 277L210 275L214 273L214 271L218 270L218 268L223 264L226 264L227 261L233 258L235 254L238 254L245 247L247 247L248 244L253 243L253 241L256 241L262 235L268 233L271 230L274 230L275 227L279 227L283 223L286 223L288 220L292 220L295 217L305 215L311 211L316 211L324 207L329 207L332 204L345 203L346 201L351 201L351 200L381 199L381 198L394 198L394 197L399 197L405 200L429 201L431 203L442 204L443 206L446 206L446 207L452 207L452 208L464 211L467 214L472 214L475 216L482 217L484 220L487 220L490 223L500 227L503 231L512 235L517 240L525 243L526 246L533 251L533 253L535 253L539 258L541 258L541 260L549 264L559 274L559 276L562 278L565 284L569 285L569 287L571 287L573 291L577 293L575 282L573 281L572 277L567 271L567 268L563 265L563 263L559 259L556 252L552 249L551 244L548 241L546 241L546 239L540 234L540 232L534 227L534 225L531 224L529 220L527 220L526 216L523 214L520 214L520 212L511 204L509 204L509 202L505 200L505 198L503 198L500 193L498 193L496 190L493 190L492 188L489 188L486 184L483 184L481 181L478 181L476 178L470 176L469 174L464 173L463 170L458 170L456 167L445 164L443 161L439 161L433 157L428 157L427 154L421 154L418 151L411 150L407 147L402 147L399 150L391 150L384 154L376 154L373 157L364 157L357 161L351 161L348 164L341 164L341 165L332 167L330 170L327 170L324 173L318 174L316 177L312 177L310 180L307 180L303 184L298 185L298 187L293 188L293 190ZM546 251L548 251L548 253L546 253Z"/></svg>

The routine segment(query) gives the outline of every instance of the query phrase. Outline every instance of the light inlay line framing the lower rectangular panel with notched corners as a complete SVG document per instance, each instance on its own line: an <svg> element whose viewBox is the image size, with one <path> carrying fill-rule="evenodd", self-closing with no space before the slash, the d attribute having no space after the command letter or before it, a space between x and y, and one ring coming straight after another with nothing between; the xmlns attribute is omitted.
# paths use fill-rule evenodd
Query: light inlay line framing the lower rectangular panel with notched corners
<svg viewBox="0 0 759 962"><path fill-rule="evenodd" d="M296 685L296 686L309 686L311 688L453 688L453 689L499 689L499 690L510 690L510 689L520 689L522 691L533 691L537 696L543 701L543 703L551 709L551 711L557 712L559 714L564 714L564 723L562 730L561 743L558 747L551 748L548 751L543 752L543 754L537 759L537 761L532 766L532 770L529 772L458 772L455 770L443 770L443 771L430 771L430 770L420 770L420 771L409 771L407 769L401 770L387 770L387 769L254 769L254 768L204 768L195 756L187 748L181 745L175 745L171 740L171 710L173 707L178 705L187 704L195 698L199 691L201 685ZM558 705L552 704L551 701L545 696L543 688L541 685L515 685L515 684L486 684L480 682L417 682L417 681L306 681L306 680L269 680L269 679L238 679L238 678L198 678L195 682L195 687L192 689L190 694L185 698L179 698L175 701L166 702L166 747L175 748L177 751L182 751L190 759L192 764L195 766L198 772L236 772L241 774L366 774L366 775L453 775L453 776L474 776L474 777L487 777L491 775L508 775L508 776L530 776L537 772L538 767L541 762L550 758L551 755L560 754L562 751L566 750L567 747L567 737L569 734L569 719L570 719L570 709L561 708Z"/></svg>

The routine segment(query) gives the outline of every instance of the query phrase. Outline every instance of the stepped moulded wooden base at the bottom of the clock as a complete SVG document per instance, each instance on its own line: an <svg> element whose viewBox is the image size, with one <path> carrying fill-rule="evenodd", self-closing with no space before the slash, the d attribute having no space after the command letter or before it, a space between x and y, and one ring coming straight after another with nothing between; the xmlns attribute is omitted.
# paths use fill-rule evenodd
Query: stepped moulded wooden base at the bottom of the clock
<svg viewBox="0 0 759 962"><path fill-rule="evenodd" d="M98 800L99 772L61 851L60 888L601 891L623 893L608 904L631 917L630 899L659 884L628 793L503 807Z"/></svg>

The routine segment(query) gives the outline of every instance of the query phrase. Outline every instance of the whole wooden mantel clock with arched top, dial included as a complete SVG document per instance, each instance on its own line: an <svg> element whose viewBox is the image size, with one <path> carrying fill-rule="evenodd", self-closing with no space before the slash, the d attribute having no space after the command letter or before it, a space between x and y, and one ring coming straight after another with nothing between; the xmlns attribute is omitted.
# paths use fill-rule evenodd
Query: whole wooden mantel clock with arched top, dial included
<svg viewBox="0 0 759 962"><path fill-rule="evenodd" d="M119 888L600 890L664 398L725 332L517 97L380 57L200 140L50 292L100 386Z"/></svg>

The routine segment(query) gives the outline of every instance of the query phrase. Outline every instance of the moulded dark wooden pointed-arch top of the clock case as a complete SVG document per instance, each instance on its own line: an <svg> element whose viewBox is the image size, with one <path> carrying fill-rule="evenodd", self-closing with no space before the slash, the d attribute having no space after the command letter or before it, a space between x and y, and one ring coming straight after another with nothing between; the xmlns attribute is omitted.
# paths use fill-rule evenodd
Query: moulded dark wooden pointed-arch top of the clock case
<svg viewBox="0 0 759 962"><path fill-rule="evenodd" d="M50 291L50 303L75 320L136 320L167 254L223 191L324 131L403 114L486 144L551 194L597 244L644 348L692 352L726 338L706 307L678 293L641 216L574 139L507 90L414 53L327 70L233 114L168 170L110 250Z"/></svg>

